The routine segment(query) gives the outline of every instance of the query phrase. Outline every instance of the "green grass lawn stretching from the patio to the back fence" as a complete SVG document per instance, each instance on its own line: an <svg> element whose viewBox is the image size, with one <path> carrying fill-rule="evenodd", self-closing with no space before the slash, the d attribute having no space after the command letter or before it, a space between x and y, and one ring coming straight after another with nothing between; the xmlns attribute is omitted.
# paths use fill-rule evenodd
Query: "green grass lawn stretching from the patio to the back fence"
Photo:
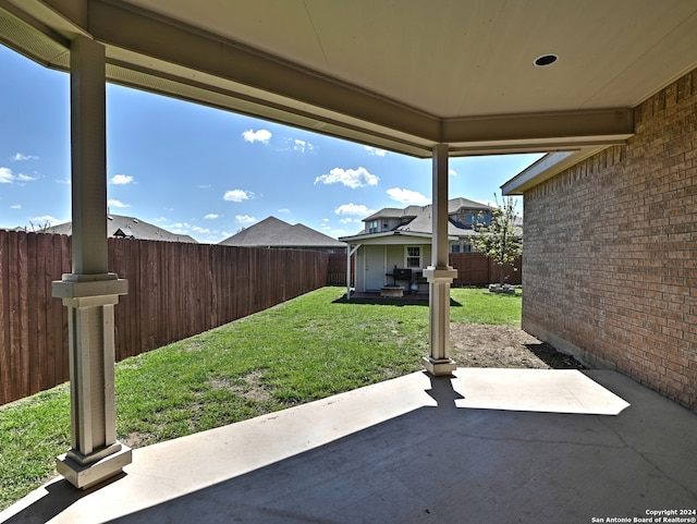
<svg viewBox="0 0 697 524"><path fill-rule="evenodd" d="M428 306L346 303L344 291L323 288L119 363L119 439L147 446L420 369ZM519 326L519 292L451 297L453 322ZM0 406L0 509L54 475L69 431L66 385Z"/></svg>

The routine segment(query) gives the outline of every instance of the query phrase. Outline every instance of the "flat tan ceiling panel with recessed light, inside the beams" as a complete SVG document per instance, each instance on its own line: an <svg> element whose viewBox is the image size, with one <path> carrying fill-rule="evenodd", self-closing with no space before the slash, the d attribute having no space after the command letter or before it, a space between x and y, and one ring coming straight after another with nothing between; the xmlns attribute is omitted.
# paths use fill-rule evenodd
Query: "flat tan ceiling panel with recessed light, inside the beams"
<svg viewBox="0 0 697 524"><path fill-rule="evenodd" d="M693 0L127 3L441 119L632 107L696 64Z"/></svg>

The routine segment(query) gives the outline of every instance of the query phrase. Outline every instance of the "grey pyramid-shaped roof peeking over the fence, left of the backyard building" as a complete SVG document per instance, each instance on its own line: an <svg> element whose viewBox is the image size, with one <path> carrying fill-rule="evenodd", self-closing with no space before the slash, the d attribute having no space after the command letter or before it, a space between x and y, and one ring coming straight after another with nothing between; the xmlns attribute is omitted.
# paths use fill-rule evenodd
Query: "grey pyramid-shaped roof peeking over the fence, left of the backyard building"
<svg viewBox="0 0 697 524"><path fill-rule="evenodd" d="M220 244L240 247L311 249L327 253L343 253L346 249L344 242L332 239L302 223L292 226L276 217L265 218L260 222L223 240Z"/></svg>

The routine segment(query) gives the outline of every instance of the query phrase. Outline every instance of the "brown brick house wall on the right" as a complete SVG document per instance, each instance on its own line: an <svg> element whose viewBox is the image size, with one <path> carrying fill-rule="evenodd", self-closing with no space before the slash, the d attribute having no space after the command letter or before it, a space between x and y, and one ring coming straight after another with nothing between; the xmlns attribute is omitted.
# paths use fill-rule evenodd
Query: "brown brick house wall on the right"
<svg viewBox="0 0 697 524"><path fill-rule="evenodd" d="M697 71L525 193L523 328L697 411Z"/></svg>

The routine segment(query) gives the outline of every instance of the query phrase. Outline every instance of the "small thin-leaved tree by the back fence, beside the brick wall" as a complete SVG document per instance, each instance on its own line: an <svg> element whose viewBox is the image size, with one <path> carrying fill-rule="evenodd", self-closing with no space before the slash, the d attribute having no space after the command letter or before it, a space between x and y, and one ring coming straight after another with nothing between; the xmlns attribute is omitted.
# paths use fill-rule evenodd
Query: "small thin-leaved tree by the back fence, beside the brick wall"
<svg viewBox="0 0 697 524"><path fill-rule="evenodd" d="M523 236L515 226L518 215L513 197L502 197L501 204L496 194L493 198L497 207L491 210L491 220L487 223L485 215L478 215L472 243L478 252L499 266L499 280L503 287L503 268L513 264L523 253Z"/></svg>

